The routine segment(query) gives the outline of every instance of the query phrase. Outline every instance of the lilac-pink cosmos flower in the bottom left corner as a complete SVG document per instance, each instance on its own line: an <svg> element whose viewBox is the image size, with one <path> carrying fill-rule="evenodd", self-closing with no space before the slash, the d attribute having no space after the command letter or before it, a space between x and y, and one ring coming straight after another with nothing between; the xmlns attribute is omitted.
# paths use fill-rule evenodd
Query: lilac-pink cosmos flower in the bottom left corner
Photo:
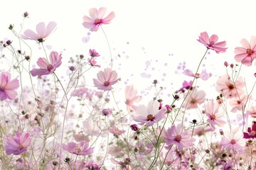
<svg viewBox="0 0 256 170"><path fill-rule="evenodd" d="M17 132L14 137L6 137L5 142L4 150L7 155L19 155L28 150L29 145L31 145L31 138L28 133Z"/></svg>

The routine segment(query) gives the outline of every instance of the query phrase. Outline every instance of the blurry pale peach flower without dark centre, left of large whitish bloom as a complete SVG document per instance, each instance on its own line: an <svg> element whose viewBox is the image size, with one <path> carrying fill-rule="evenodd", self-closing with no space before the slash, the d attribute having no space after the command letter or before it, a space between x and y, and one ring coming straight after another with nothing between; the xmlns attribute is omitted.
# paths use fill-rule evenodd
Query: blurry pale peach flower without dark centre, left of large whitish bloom
<svg viewBox="0 0 256 170"><path fill-rule="evenodd" d="M127 105L127 111L136 110L137 106L134 106L135 102L142 101L142 96L137 96L137 90L133 85L125 87L125 104Z"/></svg>

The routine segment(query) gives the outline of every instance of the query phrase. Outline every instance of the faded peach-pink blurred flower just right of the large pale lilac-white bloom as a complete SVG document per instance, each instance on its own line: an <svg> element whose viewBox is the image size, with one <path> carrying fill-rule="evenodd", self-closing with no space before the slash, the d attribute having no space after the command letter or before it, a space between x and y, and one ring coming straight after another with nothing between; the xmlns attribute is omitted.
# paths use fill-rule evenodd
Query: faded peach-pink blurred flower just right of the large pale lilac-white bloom
<svg viewBox="0 0 256 170"><path fill-rule="evenodd" d="M186 106L187 109L198 108L198 105L203 103L206 100L206 93L204 91L198 91L194 89L186 97L185 103L183 106Z"/></svg>

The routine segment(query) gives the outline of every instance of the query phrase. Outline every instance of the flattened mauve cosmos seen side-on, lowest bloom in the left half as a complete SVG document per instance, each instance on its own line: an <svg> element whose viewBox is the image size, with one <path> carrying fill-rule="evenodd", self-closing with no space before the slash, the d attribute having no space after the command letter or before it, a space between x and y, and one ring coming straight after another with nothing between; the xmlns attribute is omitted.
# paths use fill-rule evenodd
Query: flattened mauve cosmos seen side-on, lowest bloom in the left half
<svg viewBox="0 0 256 170"><path fill-rule="evenodd" d="M63 149L76 155L89 155L93 153L93 147L89 147L89 143L81 141L79 143L69 142L68 145L63 144Z"/></svg>

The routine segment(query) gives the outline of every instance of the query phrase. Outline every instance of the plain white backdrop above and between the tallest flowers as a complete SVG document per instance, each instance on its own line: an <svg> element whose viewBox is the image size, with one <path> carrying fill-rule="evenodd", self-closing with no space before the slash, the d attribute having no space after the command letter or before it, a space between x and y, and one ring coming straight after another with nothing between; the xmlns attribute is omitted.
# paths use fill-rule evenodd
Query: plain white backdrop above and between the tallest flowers
<svg viewBox="0 0 256 170"><path fill-rule="evenodd" d="M55 21L58 24L57 30L46 40L45 45L51 45L51 50L63 52L63 61L71 56L87 55L88 50L94 48L100 52L102 58L97 59L97 62L102 64L103 69L109 63L110 52L102 30L91 33L89 42L82 42L82 38L89 32L82 26L82 17L89 16L90 8L100 7L106 7L107 14L110 11L116 14L112 23L102 27L110 40L113 57L120 55L113 67L122 78L119 84L134 84L144 94L148 93L145 91L150 89L154 79L159 80L160 86L164 86L169 95L181 86L184 79L191 79L183 76L181 70L176 68L179 62L186 62L186 68L196 72L198 62L206 50L196 40L201 32L216 34L220 41L227 42L228 50L225 54L218 55L210 51L207 60L203 61L206 65L204 68L213 73L215 79L225 74L224 61L235 62L234 48L240 46L240 40L250 40L251 35L256 35L256 1L17 0L1 2L0 39L15 41L7 28L13 23L16 30L19 30L22 14L28 11L29 18L25 20L24 30L35 30L36 24L41 21ZM28 40L28 44L32 47L35 42ZM44 57L42 54L38 52L36 55ZM34 57L33 62L36 63L36 60ZM151 65L146 65L149 62ZM68 64L62 66L65 70L67 67ZM253 71L254 67L255 64L252 64L251 68L242 69L249 74L248 70ZM95 68L87 77L95 78L98 71L100 69ZM178 74L175 74L177 71ZM148 78L142 77L142 73L147 74ZM86 80L87 86L93 85L90 79ZM215 79L212 78L210 86L214 86ZM216 95L214 93L209 98Z"/></svg>

